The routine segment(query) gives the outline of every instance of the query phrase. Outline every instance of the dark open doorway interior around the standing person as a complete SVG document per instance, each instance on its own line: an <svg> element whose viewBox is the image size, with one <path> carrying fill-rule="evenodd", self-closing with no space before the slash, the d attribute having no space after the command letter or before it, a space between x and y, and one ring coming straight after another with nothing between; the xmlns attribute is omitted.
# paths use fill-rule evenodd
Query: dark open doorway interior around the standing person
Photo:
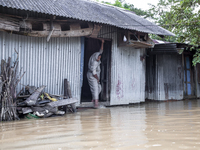
<svg viewBox="0 0 200 150"><path fill-rule="evenodd" d="M111 74L111 41L104 42L104 51L101 57L101 79L102 91L99 94L100 101L109 101L110 99L110 74ZM88 62L90 56L98 52L101 47L101 40L85 38L84 47L84 67L83 67L83 85L81 89L81 102L91 102L92 94L87 80Z"/></svg>

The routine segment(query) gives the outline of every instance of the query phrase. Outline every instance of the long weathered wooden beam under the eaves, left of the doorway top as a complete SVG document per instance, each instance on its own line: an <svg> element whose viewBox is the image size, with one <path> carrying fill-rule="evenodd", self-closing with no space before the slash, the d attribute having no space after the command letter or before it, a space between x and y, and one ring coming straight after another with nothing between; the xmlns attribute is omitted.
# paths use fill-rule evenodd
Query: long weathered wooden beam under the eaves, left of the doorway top
<svg viewBox="0 0 200 150"><path fill-rule="evenodd" d="M12 18L6 15L0 16L0 30L2 31L16 31L17 34L26 34L28 36L33 37L48 37L51 34L51 37L80 37L80 36L89 36L97 37L101 26L95 25L93 27L92 23L87 23L88 28L81 29L81 22L71 23L69 24L70 30L62 31L61 25L59 23L54 23L54 30L51 30L50 22L45 22L43 20L42 25L43 31L35 31L33 29L33 23L40 23L38 19L31 19L28 18L26 21L21 21L19 18ZM55 20L56 21L56 20ZM62 22L63 23L63 22ZM62 24L61 23L61 24ZM34 26L35 27L35 26ZM20 31L21 29L21 31ZM40 30L40 29L39 29Z"/></svg>

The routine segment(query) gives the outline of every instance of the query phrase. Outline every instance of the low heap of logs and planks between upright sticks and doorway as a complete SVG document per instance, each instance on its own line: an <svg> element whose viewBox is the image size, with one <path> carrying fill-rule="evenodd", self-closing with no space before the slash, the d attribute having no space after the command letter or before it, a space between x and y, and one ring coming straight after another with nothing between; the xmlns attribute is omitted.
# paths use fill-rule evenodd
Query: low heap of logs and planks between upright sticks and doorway
<svg viewBox="0 0 200 150"><path fill-rule="evenodd" d="M42 92L44 88L45 86L39 88L25 87L25 92L20 93L17 99L17 112L20 116L29 118L31 115L46 118L52 115L63 115L68 110L76 112L76 99L64 99L64 96ZM24 91L24 89L21 91Z"/></svg>

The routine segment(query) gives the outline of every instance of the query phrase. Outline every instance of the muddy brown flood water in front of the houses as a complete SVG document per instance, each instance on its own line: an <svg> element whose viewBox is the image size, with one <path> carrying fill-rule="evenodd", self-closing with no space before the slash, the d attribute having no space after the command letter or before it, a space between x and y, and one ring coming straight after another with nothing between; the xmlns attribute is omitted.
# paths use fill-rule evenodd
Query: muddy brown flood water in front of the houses
<svg viewBox="0 0 200 150"><path fill-rule="evenodd" d="M87 109L0 123L0 149L200 149L200 100Z"/></svg>

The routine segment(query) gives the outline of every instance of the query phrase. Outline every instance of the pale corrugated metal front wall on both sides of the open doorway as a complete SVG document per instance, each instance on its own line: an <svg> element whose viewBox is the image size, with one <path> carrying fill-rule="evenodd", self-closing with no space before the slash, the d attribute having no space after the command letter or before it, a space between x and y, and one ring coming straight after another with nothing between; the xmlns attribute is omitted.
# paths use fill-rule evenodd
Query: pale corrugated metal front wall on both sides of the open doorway
<svg viewBox="0 0 200 150"><path fill-rule="evenodd" d="M112 39L110 104L121 105L145 100L145 49L117 47L117 28L104 26L99 37ZM23 85L46 85L46 92L63 94L63 79L69 79L72 94L80 100L80 38L46 38L11 35L0 32L0 59L16 58L26 71Z"/></svg>

